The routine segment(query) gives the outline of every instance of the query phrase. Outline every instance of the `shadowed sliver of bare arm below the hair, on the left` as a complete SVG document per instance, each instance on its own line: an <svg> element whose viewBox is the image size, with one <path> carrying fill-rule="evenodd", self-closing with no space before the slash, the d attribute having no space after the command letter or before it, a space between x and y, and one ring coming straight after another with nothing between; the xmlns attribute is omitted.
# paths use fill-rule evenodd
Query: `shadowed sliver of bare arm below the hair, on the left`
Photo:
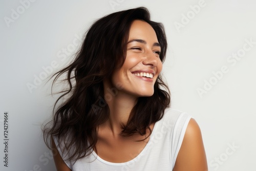
<svg viewBox="0 0 256 171"><path fill-rule="evenodd" d="M58 149L53 141L53 138L51 140L52 142L52 148L54 150L54 155L53 155L53 159L54 159L54 163L55 163L55 166L57 168L57 171L72 171L68 166L67 164L63 161L63 159L61 158L59 152L58 152Z"/></svg>

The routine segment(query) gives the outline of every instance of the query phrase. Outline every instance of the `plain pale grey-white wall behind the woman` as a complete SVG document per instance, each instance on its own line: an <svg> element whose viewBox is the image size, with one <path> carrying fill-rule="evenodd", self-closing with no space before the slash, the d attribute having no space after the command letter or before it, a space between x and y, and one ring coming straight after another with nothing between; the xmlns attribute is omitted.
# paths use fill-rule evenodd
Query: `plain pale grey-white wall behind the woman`
<svg viewBox="0 0 256 171"><path fill-rule="evenodd" d="M28 3L29 2L29 3ZM52 115L50 76L72 59L94 20L144 6L168 39L163 75L172 108L199 123L209 170L256 170L256 2L29 1L0 2L1 170L55 170L40 130ZM9 163L4 166L4 112Z"/></svg>

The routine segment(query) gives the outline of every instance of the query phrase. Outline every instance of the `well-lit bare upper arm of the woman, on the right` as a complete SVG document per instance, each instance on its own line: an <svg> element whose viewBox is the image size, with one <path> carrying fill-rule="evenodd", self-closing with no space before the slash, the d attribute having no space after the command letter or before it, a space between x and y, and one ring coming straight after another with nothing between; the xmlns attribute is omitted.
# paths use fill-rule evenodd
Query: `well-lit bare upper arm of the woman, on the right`
<svg viewBox="0 0 256 171"><path fill-rule="evenodd" d="M190 119L173 171L207 171L200 127Z"/></svg>

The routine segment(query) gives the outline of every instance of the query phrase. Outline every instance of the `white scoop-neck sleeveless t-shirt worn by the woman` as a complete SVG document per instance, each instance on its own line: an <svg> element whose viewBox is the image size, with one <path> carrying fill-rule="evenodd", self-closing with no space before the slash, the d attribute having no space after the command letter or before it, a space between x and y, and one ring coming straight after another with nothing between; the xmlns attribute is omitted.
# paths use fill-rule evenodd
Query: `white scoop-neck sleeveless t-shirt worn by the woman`
<svg viewBox="0 0 256 171"><path fill-rule="evenodd" d="M73 171L170 171L173 170L182 140L190 120L187 113L167 108L161 120L155 123L150 140L141 153L133 160L124 163L112 163L101 159L93 151L89 156L77 160L75 163L67 161L62 154L57 138L54 142L60 156Z"/></svg>

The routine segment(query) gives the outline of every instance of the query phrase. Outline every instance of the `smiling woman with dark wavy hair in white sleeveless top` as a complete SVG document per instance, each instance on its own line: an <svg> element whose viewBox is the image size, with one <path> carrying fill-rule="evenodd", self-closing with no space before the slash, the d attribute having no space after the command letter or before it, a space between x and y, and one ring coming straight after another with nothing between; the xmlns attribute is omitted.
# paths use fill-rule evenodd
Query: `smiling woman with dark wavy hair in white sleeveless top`
<svg viewBox="0 0 256 171"><path fill-rule="evenodd" d="M207 170L198 124L169 108L160 75L166 48L163 26L146 8L92 25L54 79L67 73L69 83L45 129L57 170Z"/></svg>

